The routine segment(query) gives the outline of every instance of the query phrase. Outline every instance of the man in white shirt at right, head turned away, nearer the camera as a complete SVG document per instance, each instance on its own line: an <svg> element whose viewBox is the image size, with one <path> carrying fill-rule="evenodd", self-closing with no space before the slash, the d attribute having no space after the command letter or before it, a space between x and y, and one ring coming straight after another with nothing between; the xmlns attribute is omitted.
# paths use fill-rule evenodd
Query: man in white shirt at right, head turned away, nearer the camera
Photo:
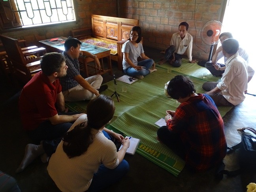
<svg viewBox="0 0 256 192"><path fill-rule="evenodd" d="M211 96L216 105L233 106L245 100L248 83L248 63L237 53L239 43L233 38L222 42L222 53L227 58L226 69L220 82L203 84L205 94Z"/></svg>

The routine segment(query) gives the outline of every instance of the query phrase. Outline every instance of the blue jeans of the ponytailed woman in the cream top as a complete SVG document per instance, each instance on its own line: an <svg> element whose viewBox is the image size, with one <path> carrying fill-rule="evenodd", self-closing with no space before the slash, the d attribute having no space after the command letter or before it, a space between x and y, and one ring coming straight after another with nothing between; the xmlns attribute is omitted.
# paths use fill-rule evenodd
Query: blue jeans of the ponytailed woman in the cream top
<svg viewBox="0 0 256 192"><path fill-rule="evenodd" d="M111 137L107 132L103 130L102 133L109 140L113 141L113 137ZM87 191L100 191L107 186L119 181L128 171L129 164L124 159L122 160L122 162L119 162L119 165L115 169L106 168L102 164L100 165L98 172L94 173L92 177L92 183L90 184L90 187Z"/></svg>

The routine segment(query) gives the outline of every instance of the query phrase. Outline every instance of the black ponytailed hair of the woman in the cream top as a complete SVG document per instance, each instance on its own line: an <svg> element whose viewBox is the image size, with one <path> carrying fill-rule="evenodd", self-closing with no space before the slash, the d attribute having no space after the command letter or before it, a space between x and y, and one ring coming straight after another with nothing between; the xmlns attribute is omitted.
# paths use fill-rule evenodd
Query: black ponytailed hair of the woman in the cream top
<svg viewBox="0 0 256 192"><path fill-rule="evenodd" d="M87 125L79 124L64 134L62 148L68 157L85 153L94 139L92 129L102 128L113 118L114 112L115 106L111 97L98 95L92 98L87 105Z"/></svg>

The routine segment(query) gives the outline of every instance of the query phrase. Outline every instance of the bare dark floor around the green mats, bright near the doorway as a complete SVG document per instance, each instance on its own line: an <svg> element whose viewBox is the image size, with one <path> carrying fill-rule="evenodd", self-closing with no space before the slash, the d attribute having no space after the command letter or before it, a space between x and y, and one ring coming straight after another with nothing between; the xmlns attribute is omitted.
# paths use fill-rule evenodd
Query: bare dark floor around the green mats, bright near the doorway
<svg viewBox="0 0 256 192"><path fill-rule="evenodd" d="M160 50L144 47L145 54L153 59L162 57ZM113 62L113 72L119 77L123 73L117 70ZM112 76L104 74L104 82L113 79ZM250 82L248 90L255 89L255 79ZM24 154L24 147L30 139L21 128L21 120L17 110L19 89L9 85L4 76L0 77L1 88L1 127L0 127L0 170L15 177L23 192L45 192L59 191L49 175L47 164L40 162L38 158L22 173L15 174ZM15 95L16 94L16 95ZM247 95L245 101L235 106L223 118L225 122L226 137L229 145L239 142L236 129L244 126L256 128L256 97ZM234 142L233 142L234 141ZM229 170L238 168L237 152L226 156L226 168ZM248 183L256 183L256 173L244 173L236 177L226 177L222 181L214 178L215 169L204 173L191 173L183 169L179 177L149 162L139 154L126 155L125 159L130 164L128 174L114 186L109 186L104 191L162 191L162 192L245 192Z"/></svg>

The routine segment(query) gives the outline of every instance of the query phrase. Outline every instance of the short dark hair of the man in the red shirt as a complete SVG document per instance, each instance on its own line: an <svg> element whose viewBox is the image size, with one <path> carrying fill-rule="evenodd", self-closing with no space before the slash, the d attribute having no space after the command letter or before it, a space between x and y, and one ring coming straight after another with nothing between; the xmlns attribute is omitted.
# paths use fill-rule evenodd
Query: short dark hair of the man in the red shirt
<svg viewBox="0 0 256 192"><path fill-rule="evenodd" d="M40 67L43 74L50 76L55 72L60 72L62 63L65 61L65 57L61 53L46 53L40 61Z"/></svg>

